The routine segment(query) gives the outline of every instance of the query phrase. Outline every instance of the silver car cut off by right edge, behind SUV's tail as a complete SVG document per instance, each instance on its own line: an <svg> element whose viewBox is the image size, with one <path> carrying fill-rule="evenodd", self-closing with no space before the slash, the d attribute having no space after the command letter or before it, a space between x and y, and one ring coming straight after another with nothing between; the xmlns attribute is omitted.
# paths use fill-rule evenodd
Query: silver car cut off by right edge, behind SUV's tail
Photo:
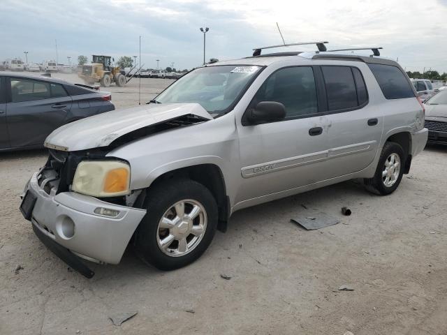
<svg viewBox="0 0 447 335"><path fill-rule="evenodd" d="M447 89L425 101L424 107L428 142L447 144Z"/></svg>

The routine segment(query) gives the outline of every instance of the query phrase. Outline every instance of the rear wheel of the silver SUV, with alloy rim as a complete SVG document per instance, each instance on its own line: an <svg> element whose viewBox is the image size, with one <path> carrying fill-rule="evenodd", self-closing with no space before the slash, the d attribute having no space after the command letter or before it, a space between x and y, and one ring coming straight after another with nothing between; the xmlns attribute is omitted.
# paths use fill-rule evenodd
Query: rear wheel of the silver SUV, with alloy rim
<svg viewBox="0 0 447 335"><path fill-rule="evenodd" d="M374 177L364 179L367 190L378 195L393 193L402 180L405 159L406 155L400 144L386 142L383 146ZM393 168L390 165L391 163L393 163Z"/></svg>

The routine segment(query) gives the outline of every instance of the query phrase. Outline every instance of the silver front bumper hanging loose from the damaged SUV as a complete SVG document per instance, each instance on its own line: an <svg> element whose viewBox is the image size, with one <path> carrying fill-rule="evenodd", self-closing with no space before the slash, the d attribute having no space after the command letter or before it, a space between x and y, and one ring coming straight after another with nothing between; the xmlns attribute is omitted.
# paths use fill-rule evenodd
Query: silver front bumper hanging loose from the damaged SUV
<svg viewBox="0 0 447 335"><path fill-rule="evenodd" d="M37 175L31 177L27 186L37 198L31 215L34 228L81 258L119 263L146 211L75 192L47 194L38 185ZM115 218L95 214L98 207L113 209L119 214Z"/></svg>

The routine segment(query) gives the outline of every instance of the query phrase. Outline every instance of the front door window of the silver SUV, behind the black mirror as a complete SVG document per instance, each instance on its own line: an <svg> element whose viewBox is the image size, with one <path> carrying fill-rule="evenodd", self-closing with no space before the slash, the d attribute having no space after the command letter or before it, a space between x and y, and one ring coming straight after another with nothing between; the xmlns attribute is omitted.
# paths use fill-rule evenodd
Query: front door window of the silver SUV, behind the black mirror
<svg viewBox="0 0 447 335"><path fill-rule="evenodd" d="M277 70L256 92L252 105L261 101L282 103L286 118L318 112L314 71L309 66Z"/></svg>

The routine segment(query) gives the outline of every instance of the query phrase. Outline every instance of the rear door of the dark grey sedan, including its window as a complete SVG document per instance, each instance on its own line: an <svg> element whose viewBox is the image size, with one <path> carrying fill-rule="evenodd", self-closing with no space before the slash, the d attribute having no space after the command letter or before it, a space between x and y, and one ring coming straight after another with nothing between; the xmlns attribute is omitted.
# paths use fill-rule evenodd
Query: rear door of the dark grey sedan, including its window
<svg viewBox="0 0 447 335"><path fill-rule="evenodd" d="M8 131L11 147L43 145L47 135L62 126L71 110L71 97L61 84L10 77Z"/></svg>

